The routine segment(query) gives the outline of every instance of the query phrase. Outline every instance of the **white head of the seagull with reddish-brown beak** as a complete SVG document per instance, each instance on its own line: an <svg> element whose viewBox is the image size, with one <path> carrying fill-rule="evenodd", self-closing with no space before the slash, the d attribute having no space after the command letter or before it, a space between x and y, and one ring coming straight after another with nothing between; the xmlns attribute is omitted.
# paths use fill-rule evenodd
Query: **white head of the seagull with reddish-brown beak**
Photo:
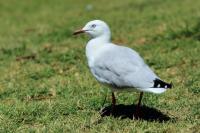
<svg viewBox="0 0 200 133"><path fill-rule="evenodd" d="M87 33L92 38L107 37L110 39L111 33L108 25L101 20L93 20L88 22L82 29L75 31L73 34Z"/></svg>

